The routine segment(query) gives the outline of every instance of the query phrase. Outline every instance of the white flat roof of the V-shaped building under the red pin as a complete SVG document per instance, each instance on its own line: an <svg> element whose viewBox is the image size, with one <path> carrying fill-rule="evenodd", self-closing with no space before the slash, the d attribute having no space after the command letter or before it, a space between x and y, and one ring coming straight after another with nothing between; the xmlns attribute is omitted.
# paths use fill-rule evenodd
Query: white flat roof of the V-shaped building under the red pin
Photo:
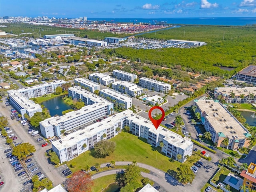
<svg viewBox="0 0 256 192"><path fill-rule="evenodd" d="M191 140L187 137L182 138L179 134L176 134L170 130L167 130L163 128L162 126L159 126L158 129L154 127L151 121L134 114L132 110L125 110L121 113L115 114L113 116L110 116L106 119L103 119L101 122L96 122L94 124L91 124L84 129L79 129L76 132L70 133L67 136L64 136L62 139L62 143L60 143L60 140L54 141L53 144L58 150L62 150L63 148L68 148L72 145L77 144L79 141L83 140L84 138L89 138L93 135L95 135L97 132L102 131L104 128L110 128L114 126L116 123L120 122L120 119L128 118L132 119L133 122L139 125L146 126L150 129L151 132L154 134L162 134L163 136L166 136L164 139L168 142L172 143L175 146L179 146L182 149L187 148L192 144ZM172 136L172 138L170 137ZM72 139L70 139L72 138Z"/></svg>

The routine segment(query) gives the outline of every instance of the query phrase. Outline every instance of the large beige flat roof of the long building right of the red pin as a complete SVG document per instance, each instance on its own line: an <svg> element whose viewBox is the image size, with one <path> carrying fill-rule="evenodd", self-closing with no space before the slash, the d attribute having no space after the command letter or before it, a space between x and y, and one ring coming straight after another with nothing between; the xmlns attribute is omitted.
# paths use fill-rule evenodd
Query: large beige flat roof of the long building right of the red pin
<svg viewBox="0 0 256 192"><path fill-rule="evenodd" d="M215 101L202 99L196 100L196 103L202 113L207 114L205 118L208 119L217 133L222 132L225 136L234 137L235 139L245 138L244 133L248 132L246 128L224 106Z"/></svg>

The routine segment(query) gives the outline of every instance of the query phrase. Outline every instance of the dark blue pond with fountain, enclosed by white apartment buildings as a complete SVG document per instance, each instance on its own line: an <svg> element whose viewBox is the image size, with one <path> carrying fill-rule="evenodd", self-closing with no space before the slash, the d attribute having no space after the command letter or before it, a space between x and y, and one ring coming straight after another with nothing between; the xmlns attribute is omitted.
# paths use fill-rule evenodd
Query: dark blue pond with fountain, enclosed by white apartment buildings
<svg viewBox="0 0 256 192"><path fill-rule="evenodd" d="M54 97L50 100L44 101L43 104L50 111L50 115L62 116L62 111L68 110L71 107L62 100L62 96Z"/></svg>

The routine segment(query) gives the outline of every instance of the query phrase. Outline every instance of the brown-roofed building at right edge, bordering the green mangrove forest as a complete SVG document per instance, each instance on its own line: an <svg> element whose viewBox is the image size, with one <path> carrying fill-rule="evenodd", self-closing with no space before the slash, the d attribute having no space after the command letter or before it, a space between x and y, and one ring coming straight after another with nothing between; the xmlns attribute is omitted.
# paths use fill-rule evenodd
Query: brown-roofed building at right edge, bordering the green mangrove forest
<svg viewBox="0 0 256 192"><path fill-rule="evenodd" d="M236 80L256 83L256 65L249 65L236 74Z"/></svg>

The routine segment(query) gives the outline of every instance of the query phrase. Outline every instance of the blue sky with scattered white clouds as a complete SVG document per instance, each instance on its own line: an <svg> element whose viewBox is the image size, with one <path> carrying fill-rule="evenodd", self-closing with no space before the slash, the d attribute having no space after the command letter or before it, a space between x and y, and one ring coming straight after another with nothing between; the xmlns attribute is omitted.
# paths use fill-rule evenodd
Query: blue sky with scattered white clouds
<svg viewBox="0 0 256 192"><path fill-rule="evenodd" d="M256 0L0 0L0 16L256 17Z"/></svg>

